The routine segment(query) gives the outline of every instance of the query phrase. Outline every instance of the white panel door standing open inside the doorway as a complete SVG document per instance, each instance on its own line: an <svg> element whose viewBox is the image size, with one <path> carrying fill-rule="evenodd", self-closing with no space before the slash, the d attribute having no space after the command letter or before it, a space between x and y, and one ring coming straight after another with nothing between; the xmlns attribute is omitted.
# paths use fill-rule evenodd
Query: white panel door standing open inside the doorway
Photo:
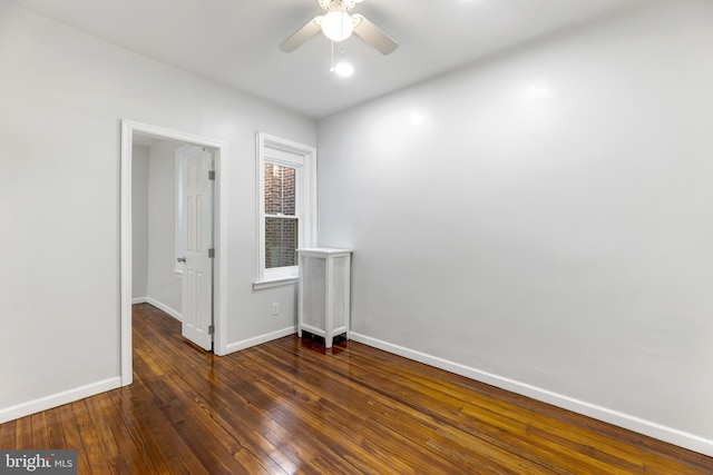
<svg viewBox="0 0 713 475"><path fill-rule="evenodd" d="M213 169L209 151L184 157L183 177L183 329L185 338L213 349Z"/></svg>

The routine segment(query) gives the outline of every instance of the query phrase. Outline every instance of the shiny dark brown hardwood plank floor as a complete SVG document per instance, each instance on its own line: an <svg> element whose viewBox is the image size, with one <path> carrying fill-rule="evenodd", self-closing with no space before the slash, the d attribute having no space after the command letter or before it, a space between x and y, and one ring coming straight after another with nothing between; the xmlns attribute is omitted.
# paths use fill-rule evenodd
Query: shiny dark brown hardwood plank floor
<svg viewBox="0 0 713 475"><path fill-rule="evenodd" d="M2 424L0 448L76 448L79 474L713 473L711 457L354 342L215 357L143 304L134 348L131 386Z"/></svg>

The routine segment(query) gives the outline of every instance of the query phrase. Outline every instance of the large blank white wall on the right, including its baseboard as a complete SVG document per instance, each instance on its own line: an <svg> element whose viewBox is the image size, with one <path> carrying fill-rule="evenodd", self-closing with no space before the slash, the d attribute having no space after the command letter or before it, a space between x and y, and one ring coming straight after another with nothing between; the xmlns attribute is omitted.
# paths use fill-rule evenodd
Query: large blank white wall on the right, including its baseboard
<svg viewBox="0 0 713 475"><path fill-rule="evenodd" d="M354 337L713 454L712 18L653 1L321 120Z"/></svg>

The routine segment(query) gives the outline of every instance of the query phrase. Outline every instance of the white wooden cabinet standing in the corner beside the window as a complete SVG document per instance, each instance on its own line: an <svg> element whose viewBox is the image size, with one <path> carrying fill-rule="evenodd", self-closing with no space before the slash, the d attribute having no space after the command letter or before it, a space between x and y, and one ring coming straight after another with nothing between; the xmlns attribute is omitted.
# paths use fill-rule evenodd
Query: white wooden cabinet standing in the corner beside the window
<svg viewBox="0 0 713 475"><path fill-rule="evenodd" d="M323 336L328 348L335 336L349 339L351 255L349 249L297 249L300 337L302 330Z"/></svg>

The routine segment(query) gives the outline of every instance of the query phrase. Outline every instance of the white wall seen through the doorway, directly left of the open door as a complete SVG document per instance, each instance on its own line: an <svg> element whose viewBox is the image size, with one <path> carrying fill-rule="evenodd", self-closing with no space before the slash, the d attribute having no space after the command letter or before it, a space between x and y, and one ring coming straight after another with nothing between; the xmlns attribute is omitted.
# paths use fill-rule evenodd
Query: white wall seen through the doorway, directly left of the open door
<svg viewBox="0 0 713 475"><path fill-rule="evenodd" d="M147 296L173 316L183 313L182 276L176 268L176 149L160 140L150 148L148 171ZM167 307L167 308L166 308Z"/></svg>

